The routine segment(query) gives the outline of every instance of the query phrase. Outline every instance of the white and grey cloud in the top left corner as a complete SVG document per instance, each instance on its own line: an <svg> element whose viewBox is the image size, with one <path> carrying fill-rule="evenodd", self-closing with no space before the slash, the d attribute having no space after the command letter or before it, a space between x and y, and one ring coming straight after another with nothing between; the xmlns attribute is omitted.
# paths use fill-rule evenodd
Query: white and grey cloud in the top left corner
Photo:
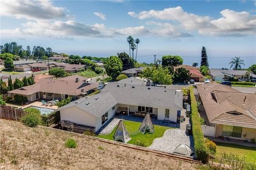
<svg viewBox="0 0 256 170"><path fill-rule="evenodd" d="M26 18L28 20L49 20L68 18L65 8L55 7L49 0L39 1L10 1L1 0L1 16Z"/></svg>

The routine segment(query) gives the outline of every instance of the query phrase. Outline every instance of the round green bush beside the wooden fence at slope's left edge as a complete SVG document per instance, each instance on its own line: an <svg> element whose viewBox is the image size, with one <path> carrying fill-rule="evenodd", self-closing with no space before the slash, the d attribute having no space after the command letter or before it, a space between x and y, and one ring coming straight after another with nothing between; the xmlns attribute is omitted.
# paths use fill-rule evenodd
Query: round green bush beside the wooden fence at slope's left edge
<svg viewBox="0 0 256 170"><path fill-rule="evenodd" d="M29 126L31 128L36 127L38 124L41 123L41 113L36 108L27 108L24 109L25 112L27 112L24 116L21 117L21 122L25 124L26 126Z"/></svg>

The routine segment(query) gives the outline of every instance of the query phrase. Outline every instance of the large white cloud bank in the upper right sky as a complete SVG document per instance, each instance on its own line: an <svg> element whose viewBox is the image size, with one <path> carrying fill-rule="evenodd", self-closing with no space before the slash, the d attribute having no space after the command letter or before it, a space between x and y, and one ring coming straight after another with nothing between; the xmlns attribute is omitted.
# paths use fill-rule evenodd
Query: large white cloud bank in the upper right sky
<svg viewBox="0 0 256 170"><path fill-rule="evenodd" d="M165 8L162 11L150 10L140 13L128 12L128 15L143 19L178 21L185 30L198 30L202 35L242 36L253 33L256 16L249 12L223 10L222 18L211 19L209 16L199 16L183 11L182 7Z"/></svg>

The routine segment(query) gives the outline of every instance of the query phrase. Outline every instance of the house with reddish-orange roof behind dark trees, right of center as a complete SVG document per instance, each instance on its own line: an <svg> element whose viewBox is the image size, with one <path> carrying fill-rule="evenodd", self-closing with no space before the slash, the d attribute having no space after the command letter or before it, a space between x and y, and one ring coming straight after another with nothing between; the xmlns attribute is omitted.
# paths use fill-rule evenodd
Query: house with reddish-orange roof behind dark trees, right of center
<svg viewBox="0 0 256 170"><path fill-rule="evenodd" d="M197 67L190 66L190 65L179 65L179 66L174 67L174 71L180 67L184 67L186 70L189 70L189 73L191 73L189 80L194 79L196 82L204 82L205 81L204 75L201 74L201 72L199 71L199 69Z"/></svg>

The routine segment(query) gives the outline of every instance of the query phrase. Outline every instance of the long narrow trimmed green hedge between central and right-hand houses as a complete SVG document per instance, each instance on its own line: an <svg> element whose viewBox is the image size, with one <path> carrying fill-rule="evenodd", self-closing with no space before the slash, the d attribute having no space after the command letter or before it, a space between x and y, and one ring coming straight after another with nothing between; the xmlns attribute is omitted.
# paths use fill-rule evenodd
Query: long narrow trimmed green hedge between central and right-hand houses
<svg viewBox="0 0 256 170"><path fill-rule="evenodd" d="M191 99L191 122L196 157L197 159L201 160L202 163L205 164L209 160L209 155L207 154L207 146L204 140L203 131L201 129L201 122L200 117L198 115L198 109L193 87L189 88L189 94Z"/></svg>

